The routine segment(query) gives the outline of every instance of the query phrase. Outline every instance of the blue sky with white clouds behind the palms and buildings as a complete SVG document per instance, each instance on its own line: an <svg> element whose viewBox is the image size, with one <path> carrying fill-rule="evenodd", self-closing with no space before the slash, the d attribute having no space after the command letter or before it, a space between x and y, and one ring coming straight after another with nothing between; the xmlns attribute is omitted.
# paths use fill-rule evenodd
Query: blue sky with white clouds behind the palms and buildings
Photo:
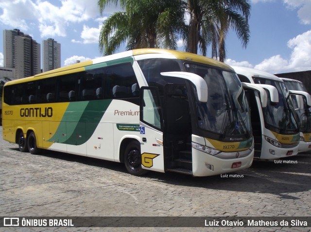
<svg viewBox="0 0 311 232"><path fill-rule="evenodd" d="M249 2L249 44L242 48L231 31L226 39L225 62L270 73L311 70L311 0ZM100 57L101 24L119 10L110 5L100 15L97 0L0 0L0 66L2 31L15 28L30 34L41 46L47 38L60 43L62 66ZM182 41L179 44L183 50Z"/></svg>

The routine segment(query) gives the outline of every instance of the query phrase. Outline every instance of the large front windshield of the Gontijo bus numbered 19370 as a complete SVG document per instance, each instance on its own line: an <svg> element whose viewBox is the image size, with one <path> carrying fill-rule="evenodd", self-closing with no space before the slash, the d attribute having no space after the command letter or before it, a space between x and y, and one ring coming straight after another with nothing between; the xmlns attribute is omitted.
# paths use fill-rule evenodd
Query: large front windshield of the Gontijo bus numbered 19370
<svg viewBox="0 0 311 232"><path fill-rule="evenodd" d="M222 140L239 141L250 135L249 109L236 74L194 63L185 67L203 77L208 86L207 103L197 102L198 126L220 134Z"/></svg>

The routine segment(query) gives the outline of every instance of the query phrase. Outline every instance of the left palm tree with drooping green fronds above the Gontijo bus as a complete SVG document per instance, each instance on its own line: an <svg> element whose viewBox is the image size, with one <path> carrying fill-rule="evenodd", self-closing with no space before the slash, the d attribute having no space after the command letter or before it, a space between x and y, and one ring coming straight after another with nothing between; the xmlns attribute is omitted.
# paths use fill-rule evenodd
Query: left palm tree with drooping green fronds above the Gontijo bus
<svg viewBox="0 0 311 232"><path fill-rule="evenodd" d="M124 12L116 12L104 21L99 45L105 55L114 53L122 44L126 49L165 47L176 49L180 35L186 34L183 0L98 0L100 12L108 3L118 2Z"/></svg>

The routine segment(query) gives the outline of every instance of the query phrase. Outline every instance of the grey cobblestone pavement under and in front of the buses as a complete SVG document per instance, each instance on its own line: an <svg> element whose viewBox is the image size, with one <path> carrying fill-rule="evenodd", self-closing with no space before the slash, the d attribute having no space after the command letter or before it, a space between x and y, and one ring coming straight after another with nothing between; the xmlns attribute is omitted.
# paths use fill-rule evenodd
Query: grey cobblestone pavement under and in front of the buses
<svg viewBox="0 0 311 232"><path fill-rule="evenodd" d="M242 177L191 177L149 172L136 177L123 164L45 151L21 153L2 139L0 216L268 216L311 217L311 154L255 161ZM250 231L295 228L0 228L0 231Z"/></svg>

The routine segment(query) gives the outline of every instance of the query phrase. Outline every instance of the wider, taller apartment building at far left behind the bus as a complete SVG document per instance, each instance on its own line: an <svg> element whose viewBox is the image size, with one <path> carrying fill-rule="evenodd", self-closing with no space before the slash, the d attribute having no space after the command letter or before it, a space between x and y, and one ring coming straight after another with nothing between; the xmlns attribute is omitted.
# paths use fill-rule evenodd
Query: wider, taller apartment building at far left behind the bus
<svg viewBox="0 0 311 232"><path fill-rule="evenodd" d="M3 31L4 67L15 68L16 78L41 73L40 44L18 29Z"/></svg>

